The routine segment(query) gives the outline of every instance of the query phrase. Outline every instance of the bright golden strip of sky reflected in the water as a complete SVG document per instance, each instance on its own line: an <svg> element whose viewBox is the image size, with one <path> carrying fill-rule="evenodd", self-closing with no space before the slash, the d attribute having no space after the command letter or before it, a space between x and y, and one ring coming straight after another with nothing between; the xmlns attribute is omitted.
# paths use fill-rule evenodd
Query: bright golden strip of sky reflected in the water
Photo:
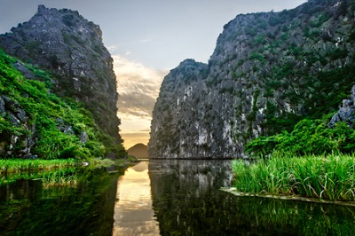
<svg viewBox="0 0 355 236"><path fill-rule="evenodd" d="M159 235L152 209L147 161L128 169L118 181L114 235Z"/></svg>

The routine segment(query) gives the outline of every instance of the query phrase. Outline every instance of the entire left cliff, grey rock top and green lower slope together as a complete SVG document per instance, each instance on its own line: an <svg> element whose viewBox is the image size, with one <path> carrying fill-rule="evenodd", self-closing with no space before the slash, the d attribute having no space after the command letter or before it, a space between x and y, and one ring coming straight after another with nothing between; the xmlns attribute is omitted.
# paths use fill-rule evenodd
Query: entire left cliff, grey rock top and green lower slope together
<svg viewBox="0 0 355 236"><path fill-rule="evenodd" d="M31 20L0 35L0 47L1 157L125 155L99 26L40 5Z"/></svg>

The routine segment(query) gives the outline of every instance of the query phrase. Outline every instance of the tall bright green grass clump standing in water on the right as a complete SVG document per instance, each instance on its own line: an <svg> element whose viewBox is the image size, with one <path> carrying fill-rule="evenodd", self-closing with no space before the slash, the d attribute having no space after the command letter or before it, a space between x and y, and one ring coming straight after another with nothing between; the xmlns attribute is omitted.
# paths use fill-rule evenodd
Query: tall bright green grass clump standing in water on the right
<svg viewBox="0 0 355 236"><path fill-rule="evenodd" d="M294 157L275 153L254 163L233 161L234 185L244 193L287 194L329 201L355 201L355 156Z"/></svg>

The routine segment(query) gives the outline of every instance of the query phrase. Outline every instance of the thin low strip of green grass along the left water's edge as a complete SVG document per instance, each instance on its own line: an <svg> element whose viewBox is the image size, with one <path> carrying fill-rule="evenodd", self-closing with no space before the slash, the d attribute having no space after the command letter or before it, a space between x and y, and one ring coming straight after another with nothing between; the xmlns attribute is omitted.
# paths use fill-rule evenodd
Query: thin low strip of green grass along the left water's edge
<svg viewBox="0 0 355 236"><path fill-rule="evenodd" d="M75 159L66 160L0 160L0 174L19 173L28 170L59 169L75 166Z"/></svg>

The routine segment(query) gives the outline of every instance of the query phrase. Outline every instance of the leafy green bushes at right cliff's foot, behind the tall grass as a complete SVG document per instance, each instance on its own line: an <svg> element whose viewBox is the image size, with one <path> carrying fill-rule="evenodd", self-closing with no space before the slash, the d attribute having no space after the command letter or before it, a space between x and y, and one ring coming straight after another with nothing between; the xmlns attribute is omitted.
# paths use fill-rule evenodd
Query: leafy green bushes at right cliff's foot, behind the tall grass
<svg viewBox="0 0 355 236"><path fill-rule="evenodd" d="M259 137L246 145L246 152L266 157L273 152L296 155L323 153L353 153L355 130L339 122L334 128L327 127L327 119L304 119L291 132L283 131L271 137Z"/></svg>

